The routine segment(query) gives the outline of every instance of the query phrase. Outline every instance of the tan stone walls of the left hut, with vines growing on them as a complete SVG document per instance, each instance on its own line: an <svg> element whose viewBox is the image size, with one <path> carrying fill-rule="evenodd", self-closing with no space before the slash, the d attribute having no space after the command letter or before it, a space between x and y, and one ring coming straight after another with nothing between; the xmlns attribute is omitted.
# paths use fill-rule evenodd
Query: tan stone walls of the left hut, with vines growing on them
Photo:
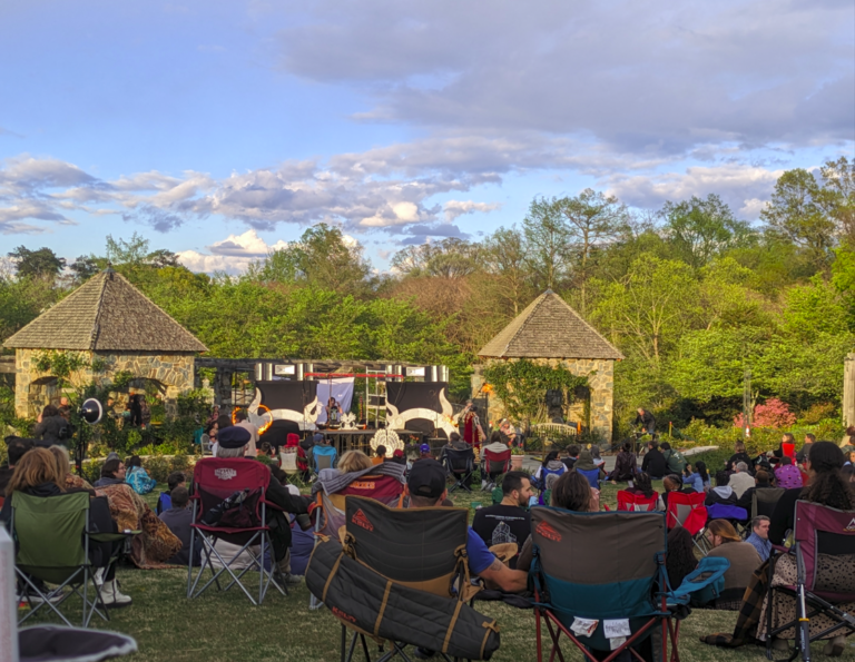
<svg viewBox="0 0 855 662"><path fill-rule="evenodd" d="M35 355L41 349L17 349L14 353L14 411L23 418L35 418L42 407L51 402L58 402L59 392L51 388L51 375L40 373L35 367ZM90 358L92 353L87 354ZM194 355L193 354L157 354L157 353L95 353L95 356L106 363L101 373L79 370L70 376L73 385L89 383L92 377L106 382L116 373L128 372L135 378L154 379L166 388L164 403L167 415L176 414L176 398L183 391L193 388Z"/></svg>

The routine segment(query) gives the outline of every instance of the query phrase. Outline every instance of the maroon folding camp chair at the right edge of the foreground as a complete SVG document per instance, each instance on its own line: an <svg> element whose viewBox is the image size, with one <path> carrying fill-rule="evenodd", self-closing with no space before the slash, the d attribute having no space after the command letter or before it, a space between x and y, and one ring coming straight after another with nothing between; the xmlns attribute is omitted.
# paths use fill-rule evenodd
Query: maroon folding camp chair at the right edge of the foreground
<svg viewBox="0 0 855 662"><path fill-rule="evenodd" d="M797 501L793 521L793 547L789 551L775 547L775 552L779 553L773 553L769 563L766 656L773 659L773 638L794 628L796 645L787 660L794 660L800 653L802 660L809 662L812 642L829 634L855 633L855 615L837 606L855 602L855 575L848 573L848 581L843 585L839 577L828 576L827 570L835 561L837 564L846 563L847 557L855 555L855 511L838 511L807 501ZM787 554L795 557L796 584L775 586L772 582L775 565ZM773 629L772 605L776 593L795 599L796 617ZM810 636L810 619L817 614L823 614L835 624Z"/></svg>

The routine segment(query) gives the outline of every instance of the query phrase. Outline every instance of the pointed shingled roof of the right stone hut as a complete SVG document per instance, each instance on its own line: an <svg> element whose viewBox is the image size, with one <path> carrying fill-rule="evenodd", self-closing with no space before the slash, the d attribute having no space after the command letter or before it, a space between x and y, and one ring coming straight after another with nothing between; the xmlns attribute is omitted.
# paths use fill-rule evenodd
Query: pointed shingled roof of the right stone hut
<svg viewBox="0 0 855 662"><path fill-rule="evenodd" d="M478 355L489 358L623 358L551 289L514 317Z"/></svg>

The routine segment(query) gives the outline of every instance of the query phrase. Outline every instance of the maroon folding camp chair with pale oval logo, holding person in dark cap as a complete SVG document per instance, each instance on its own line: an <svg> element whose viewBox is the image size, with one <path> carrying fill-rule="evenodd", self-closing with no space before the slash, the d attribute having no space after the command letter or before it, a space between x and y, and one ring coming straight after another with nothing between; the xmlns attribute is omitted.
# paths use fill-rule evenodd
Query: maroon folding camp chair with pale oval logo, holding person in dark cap
<svg viewBox="0 0 855 662"><path fill-rule="evenodd" d="M190 549L195 549L196 536L200 536L203 560L199 572L194 579L193 554L190 554L190 561L187 565L187 597L202 595L212 584L216 584L220 591L228 591L237 584L249 599L249 602L256 606L262 604L271 585L283 595L287 595L285 584L281 585L274 577L276 564L273 562L273 544L267 511L281 508L265 498L269 482L271 471L255 460L204 457L196 463L193 472ZM213 524L204 522L205 515L212 508L220 506L226 498L237 493L245 495L238 507L225 511L218 522ZM229 524L233 521L229 513L243 514L243 524ZM215 546L218 540L239 546L238 552L226 561ZM258 553L253 550L255 545L259 545ZM248 556L249 563L236 574L237 567L233 569L232 566L242 555L244 559ZM213 556L219 561L219 570L215 571ZM266 569L265 564L268 564L269 567ZM210 570L212 577L197 590L206 566ZM250 570L258 571L257 600L240 582L242 577ZM232 580L225 589L219 581L224 573L227 573Z"/></svg>

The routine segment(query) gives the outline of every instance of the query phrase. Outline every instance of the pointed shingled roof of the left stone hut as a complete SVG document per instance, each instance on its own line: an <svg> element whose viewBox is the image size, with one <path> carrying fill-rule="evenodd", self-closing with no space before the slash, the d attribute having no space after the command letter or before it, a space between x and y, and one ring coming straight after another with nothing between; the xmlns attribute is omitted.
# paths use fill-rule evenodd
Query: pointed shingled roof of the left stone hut
<svg viewBox="0 0 855 662"><path fill-rule="evenodd" d="M205 352L207 347L112 269L105 269L6 340L10 348Z"/></svg>

